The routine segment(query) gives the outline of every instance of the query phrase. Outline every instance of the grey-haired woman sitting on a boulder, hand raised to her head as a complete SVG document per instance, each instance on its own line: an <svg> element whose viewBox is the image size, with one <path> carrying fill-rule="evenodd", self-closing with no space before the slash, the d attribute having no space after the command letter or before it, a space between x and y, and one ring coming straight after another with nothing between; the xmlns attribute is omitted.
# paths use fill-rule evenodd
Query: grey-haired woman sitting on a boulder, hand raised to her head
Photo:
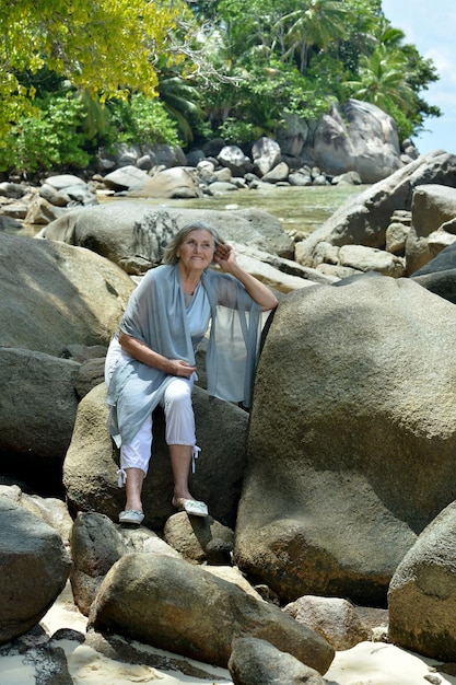
<svg viewBox="0 0 456 685"><path fill-rule="evenodd" d="M221 271L209 269L215 262ZM191 391L195 352L210 327L210 395L249 406L261 312L273 293L236 262L233 248L203 222L182 229L132 293L106 357L109 430L120 448L119 486L126 487L120 523L144 518L142 483L152 448L152 411L162 406L174 478L173 507L204 516L208 508L188 489L198 455Z"/></svg>

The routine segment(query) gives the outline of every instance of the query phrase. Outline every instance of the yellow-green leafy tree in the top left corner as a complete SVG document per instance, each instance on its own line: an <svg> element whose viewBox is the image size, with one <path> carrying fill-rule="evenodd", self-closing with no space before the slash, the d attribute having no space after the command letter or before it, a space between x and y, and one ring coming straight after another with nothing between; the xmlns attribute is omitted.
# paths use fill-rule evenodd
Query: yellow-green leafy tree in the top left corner
<svg viewBox="0 0 456 685"><path fill-rule="evenodd" d="M45 67L104 102L156 95L153 67L183 11L177 0L14 0L0 4L0 140L33 109Z"/></svg>

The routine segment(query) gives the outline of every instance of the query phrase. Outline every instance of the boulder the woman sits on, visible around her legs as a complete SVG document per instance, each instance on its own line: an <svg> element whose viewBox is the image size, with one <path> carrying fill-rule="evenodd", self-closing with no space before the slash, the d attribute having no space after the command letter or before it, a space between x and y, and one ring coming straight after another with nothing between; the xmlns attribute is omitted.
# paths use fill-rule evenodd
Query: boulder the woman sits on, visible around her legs
<svg viewBox="0 0 456 685"><path fill-rule="evenodd" d="M72 513L97 511L117 522L125 506L125 490L118 488L118 451L107 431L106 387L92 390L80 402L71 443L63 462L63 485ZM204 500L210 514L234 526L245 468L248 414L237 406L194 390L197 441L201 453L190 490ZM161 530L175 513L171 500L173 478L164 440L164 417L154 415L154 444L143 486L143 524Z"/></svg>

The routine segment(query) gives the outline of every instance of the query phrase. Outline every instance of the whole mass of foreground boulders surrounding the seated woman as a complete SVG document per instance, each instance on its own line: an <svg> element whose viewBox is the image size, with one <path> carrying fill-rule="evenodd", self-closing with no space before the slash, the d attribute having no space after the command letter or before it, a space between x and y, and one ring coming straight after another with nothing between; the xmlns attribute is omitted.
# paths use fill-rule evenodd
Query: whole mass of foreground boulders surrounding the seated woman
<svg viewBox="0 0 456 685"><path fill-rule="evenodd" d="M69 578L80 641L117 649L114 632L239 685L254 670L323 683L336 649L372 638L360 605L389 609L386 639L454 661L455 164L409 163L299 243L265 212L204 210L281 297L249 415L208 397L200 351L191 489L211 515L198 522L171 507L159 414L144 526L116 523L103 383L135 279L189 210L90 204L38 240L0 233L0 452L21 486L0 492L2 650L25 649ZM365 253L341 264L353 247L404 270ZM59 487L60 507L28 487Z"/></svg>

